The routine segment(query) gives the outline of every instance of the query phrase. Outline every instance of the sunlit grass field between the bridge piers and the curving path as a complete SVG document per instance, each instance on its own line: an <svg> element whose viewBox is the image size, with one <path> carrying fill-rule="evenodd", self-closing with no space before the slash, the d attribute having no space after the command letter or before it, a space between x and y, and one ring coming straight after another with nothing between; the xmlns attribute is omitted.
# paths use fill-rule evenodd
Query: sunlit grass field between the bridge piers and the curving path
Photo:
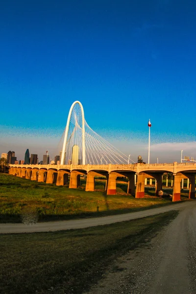
<svg viewBox="0 0 196 294"><path fill-rule="evenodd" d="M117 195L107 196L104 181L96 181L96 192L81 188L38 183L0 173L0 222L35 222L105 216L171 204L171 199L154 196L154 188L145 188L146 196L136 199L127 195L127 183L117 183ZM172 190L167 190L172 194ZM188 191L182 194L188 198Z"/></svg>

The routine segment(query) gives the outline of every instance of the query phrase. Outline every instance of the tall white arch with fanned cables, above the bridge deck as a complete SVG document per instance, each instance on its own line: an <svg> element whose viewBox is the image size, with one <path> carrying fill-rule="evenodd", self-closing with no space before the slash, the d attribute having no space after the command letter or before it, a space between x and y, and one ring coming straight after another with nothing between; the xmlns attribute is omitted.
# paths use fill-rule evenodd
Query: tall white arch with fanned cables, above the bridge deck
<svg viewBox="0 0 196 294"><path fill-rule="evenodd" d="M79 101L73 102L63 134L60 164L129 164L135 163L88 125Z"/></svg>

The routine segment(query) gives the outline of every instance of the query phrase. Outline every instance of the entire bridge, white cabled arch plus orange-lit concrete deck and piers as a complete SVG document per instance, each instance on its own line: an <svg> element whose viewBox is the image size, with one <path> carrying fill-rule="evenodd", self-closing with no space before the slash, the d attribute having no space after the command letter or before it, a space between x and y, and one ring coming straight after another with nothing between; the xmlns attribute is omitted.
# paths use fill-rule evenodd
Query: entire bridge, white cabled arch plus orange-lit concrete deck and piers
<svg viewBox="0 0 196 294"><path fill-rule="evenodd" d="M128 179L127 193L136 198L145 196L147 178L155 178L155 195L158 196L162 191L163 174L172 173L172 201L180 200L184 178L187 179L189 198L195 198L196 163L135 164L90 128L79 101L73 102L70 108L62 140L57 165L10 164L9 173L38 182L69 185L73 189L80 186L80 177L85 176L86 191L95 191L95 177L104 176L107 195L116 194L116 179L123 176Z"/></svg>

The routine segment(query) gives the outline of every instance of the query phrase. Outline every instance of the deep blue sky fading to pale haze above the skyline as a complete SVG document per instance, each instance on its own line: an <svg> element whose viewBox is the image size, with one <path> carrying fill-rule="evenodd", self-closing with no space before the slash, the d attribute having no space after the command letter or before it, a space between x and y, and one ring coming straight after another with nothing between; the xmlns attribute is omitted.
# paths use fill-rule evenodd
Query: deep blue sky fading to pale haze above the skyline
<svg viewBox="0 0 196 294"><path fill-rule="evenodd" d="M87 123L134 159L147 158L149 118L153 160L177 160L182 143L196 157L195 16L193 0L1 3L0 152L55 153L79 100Z"/></svg>

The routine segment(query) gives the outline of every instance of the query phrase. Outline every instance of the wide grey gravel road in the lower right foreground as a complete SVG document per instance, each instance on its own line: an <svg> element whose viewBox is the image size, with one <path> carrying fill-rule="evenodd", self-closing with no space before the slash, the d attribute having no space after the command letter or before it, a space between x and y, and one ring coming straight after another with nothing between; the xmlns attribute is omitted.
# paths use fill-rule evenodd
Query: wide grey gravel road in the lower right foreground
<svg viewBox="0 0 196 294"><path fill-rule="evenodd" d="M151 241L116 260L86 294L196 294L196 201Z"/></svg>

